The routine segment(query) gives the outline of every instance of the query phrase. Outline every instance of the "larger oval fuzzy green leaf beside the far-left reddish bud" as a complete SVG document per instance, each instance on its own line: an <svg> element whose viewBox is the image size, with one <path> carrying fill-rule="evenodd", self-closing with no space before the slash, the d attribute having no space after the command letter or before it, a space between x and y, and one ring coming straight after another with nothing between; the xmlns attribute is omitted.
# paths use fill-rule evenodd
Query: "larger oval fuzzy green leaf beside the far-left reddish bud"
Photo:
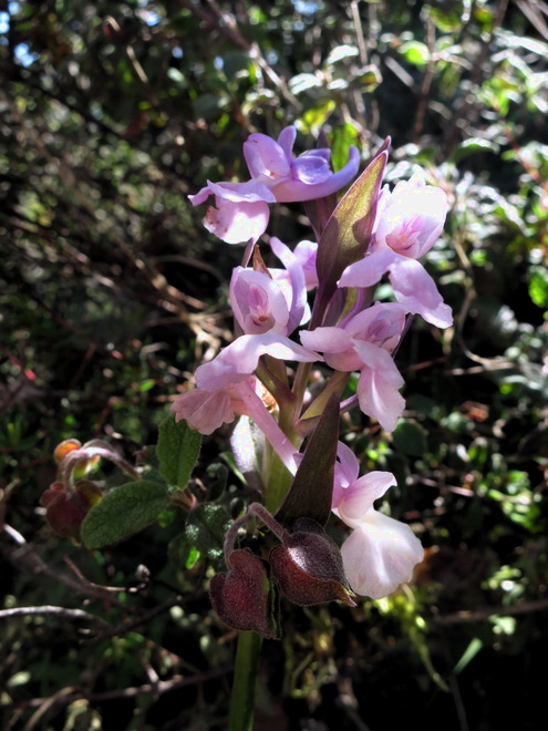
<svg viewBox="0 0 548 731"><path fill-rule="evenodd" d="M100 548L146 528L169 504L165 485L128 482L107 493L82 523L87 548Z"/></svg>

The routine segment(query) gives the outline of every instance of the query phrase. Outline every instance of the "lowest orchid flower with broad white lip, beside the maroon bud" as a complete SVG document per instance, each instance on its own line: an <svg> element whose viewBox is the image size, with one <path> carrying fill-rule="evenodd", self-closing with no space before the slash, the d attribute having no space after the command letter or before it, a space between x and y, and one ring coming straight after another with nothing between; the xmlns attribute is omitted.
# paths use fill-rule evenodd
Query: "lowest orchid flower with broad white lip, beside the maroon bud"
<svg viewBox="0 0 548 731"><path fill-rule="evenodd" d="M342 442L337 456L332 511L353 528L341 547L344 573L355 594L381 599L411 580L424 550L409 525L373 507L396 484L394 475L374 471L359 477L358 459Z"/></svg>

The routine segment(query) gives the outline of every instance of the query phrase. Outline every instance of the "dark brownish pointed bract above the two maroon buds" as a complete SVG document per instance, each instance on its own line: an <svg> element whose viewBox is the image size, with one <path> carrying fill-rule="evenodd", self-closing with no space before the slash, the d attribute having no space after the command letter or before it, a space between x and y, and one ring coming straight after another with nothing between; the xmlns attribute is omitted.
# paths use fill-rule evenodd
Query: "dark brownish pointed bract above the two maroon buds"
<svg viewBox="0 0 548 731"><path fill-rule="evenodd" d="M331 514L334 463L339 440L340 394L333 393L325 404L294 480L276 517L290 524L310 517L325 525Z"/></svg>

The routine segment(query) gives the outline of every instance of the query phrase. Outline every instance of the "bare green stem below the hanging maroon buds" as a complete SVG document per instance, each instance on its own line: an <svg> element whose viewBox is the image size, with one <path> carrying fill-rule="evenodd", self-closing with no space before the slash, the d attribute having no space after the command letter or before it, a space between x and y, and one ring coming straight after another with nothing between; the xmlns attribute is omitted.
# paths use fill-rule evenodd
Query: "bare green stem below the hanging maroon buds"
<svg viewBox="0 0 548 731"><path fill-rule="evenodd" d="M228 731L252 731L261 646L262 637L258 632L238 635Z"/></svg>

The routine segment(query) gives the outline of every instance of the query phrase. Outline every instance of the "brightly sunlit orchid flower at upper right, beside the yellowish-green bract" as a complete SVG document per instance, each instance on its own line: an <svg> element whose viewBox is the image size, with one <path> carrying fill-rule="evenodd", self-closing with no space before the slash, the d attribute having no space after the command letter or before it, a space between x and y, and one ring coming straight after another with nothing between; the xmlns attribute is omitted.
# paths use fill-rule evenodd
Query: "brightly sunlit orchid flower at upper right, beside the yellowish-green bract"
<svg viewBox="0 0 548 731"><path fill-rule="evenodd" d="M438 328L449 327L451 308L417 261L438 239L446 214L445 192L426 185L423 173L397 183L392 193L384 186L369 250L344 269L339 287L372 287L389 272L395 298L407 312Z"/></svg>

